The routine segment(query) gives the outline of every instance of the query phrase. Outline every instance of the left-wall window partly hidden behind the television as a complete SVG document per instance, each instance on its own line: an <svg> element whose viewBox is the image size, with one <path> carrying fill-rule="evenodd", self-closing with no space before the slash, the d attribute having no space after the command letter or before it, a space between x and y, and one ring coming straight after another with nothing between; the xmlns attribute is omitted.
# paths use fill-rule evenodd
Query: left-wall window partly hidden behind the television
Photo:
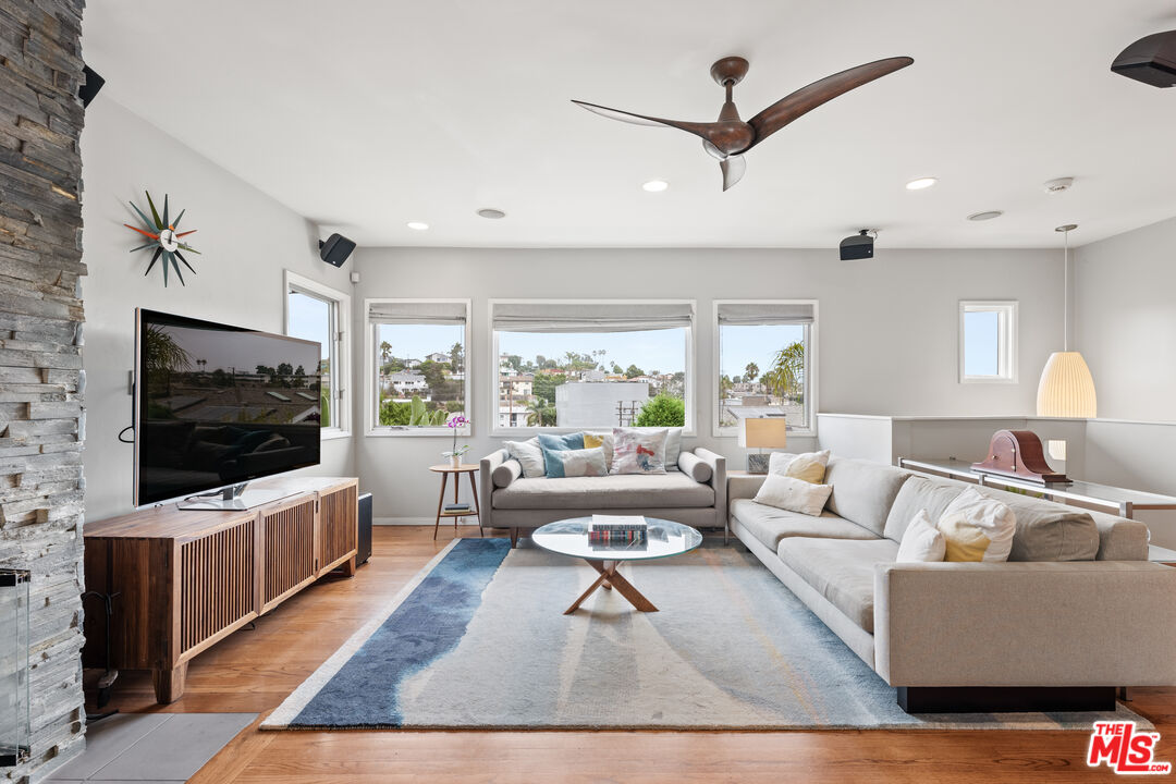
<svg viewBox="0 0 1176 784"><path fill-rule="evenodd" d="M319 367L305 371L320 376L319 422L323 438L350 435L350 401L346 395L350 356L346 324L350 308L347 294L286 270L286 334L322 346Z"/></svg>

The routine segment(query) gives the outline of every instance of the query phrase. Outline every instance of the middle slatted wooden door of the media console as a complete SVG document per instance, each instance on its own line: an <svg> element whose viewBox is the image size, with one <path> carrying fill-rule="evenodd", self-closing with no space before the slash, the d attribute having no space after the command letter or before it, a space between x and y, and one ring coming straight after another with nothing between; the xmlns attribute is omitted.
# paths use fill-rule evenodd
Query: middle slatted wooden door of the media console
<svg viewBox="0 0 1176 784"><path fill-rule="evenodd" d="M300 496L261 510L263 559L261 611L268 612L313 583L315 569L315 497Z"/></svg>

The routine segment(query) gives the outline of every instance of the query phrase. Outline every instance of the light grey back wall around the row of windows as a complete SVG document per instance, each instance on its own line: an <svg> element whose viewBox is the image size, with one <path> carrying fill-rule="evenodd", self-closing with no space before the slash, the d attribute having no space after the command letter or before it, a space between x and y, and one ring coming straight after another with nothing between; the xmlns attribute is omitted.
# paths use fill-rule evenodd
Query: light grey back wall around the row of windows
<svg viewBox="0 0 1176 784"><path fill-rule="evenodd" d="M510 219L515 220L515 219ZM711 301L820 300L820 410L935 416L1030 413L1037 376L1060 340L1062 264L1045 250L887 250L842 262L834 240L818 250L361 248L355 301L362 296L473 299L473 457L500 448L490 438L487 300L492 297L695 299L697 437L743 467L735 438L711 437ZM958 383L958 301L1018 300L1016 384ZM356 367L366 357L356 342ZM358 398L359 400L359 398ZM362 403L358 403L362 404ZM815 440L795 438L804 449ZM375 516L432 521L435 477L426 468L448 449L442 438L356 437L361 485L375 494Z"/></svg>

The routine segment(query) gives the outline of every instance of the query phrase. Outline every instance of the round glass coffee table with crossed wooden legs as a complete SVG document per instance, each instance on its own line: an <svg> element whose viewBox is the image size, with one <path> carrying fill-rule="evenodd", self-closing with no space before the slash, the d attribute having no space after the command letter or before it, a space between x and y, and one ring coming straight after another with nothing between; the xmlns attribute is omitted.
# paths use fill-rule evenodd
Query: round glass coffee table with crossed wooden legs
<svg viewBox="0 0 1176 784"><path fill-rule="evenodd" d="M616 592L642 612L656 612L657 608L633 587L633 583L616 572L623 561L653 561L689 552L702 544L702 534L670 520L646 517L649 524L646 542L641 544L596 544L588 541L588 523L592 517L573 517L560 520L536 528L530 540L552 552L583 558L593 569L600 572L592 585L572 603L563 615L572 615L592 596L597 588L616 589Z"/></svg>

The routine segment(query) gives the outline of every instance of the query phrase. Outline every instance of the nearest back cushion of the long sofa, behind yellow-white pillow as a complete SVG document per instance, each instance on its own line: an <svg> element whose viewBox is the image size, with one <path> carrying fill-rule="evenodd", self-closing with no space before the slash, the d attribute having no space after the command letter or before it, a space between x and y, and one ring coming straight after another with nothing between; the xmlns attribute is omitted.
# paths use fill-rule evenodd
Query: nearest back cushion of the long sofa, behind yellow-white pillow
<svg viewBox="0 0 1176 784"><path fill-rule="evenodd" d="M1088 512L1017 492L977 489L1017 517L1009 561L1094 561L1098 554L1098 525Z"/></svg>

